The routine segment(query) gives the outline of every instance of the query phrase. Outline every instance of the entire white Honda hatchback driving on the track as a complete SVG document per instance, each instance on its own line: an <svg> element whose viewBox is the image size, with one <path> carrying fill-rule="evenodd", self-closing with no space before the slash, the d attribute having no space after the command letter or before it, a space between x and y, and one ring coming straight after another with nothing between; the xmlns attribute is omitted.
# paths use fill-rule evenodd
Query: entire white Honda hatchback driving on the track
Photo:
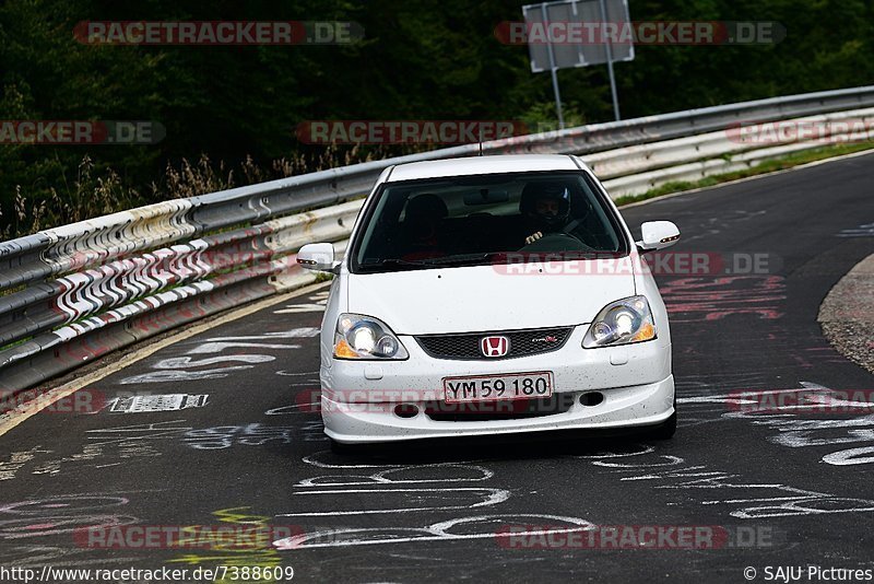
<svg viewBox="0 0 874 584"><path fill-rule="evenodd" d="M676 429L671 334L635 242L576 156L387 168L340 258L321 329L321 412L335 447L571 429Z"/></svg>

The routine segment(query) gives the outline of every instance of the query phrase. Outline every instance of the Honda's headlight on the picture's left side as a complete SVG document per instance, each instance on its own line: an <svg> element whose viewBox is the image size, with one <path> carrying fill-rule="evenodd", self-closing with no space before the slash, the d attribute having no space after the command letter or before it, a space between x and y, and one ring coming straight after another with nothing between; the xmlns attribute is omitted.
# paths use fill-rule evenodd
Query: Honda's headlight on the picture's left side
<svg viewBox="0 0 874 584"><path fill-rule="evenodd" d="M334 332L338 359L406 359L410 354L382 320L361 314L341 314Z"/></svg>

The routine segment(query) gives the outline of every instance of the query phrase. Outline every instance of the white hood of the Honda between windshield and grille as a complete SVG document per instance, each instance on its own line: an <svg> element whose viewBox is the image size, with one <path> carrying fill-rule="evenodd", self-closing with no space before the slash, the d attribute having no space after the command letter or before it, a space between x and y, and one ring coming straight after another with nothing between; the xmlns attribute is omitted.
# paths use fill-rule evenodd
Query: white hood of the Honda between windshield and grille
<svg viewBox="0 0 874 584"><path fill-rule="evenodd" d="M505 266L349 273L347 306L398 335L581 325L635 294L630 258L611 260L610 273L599 273L598 261L527 265L522 273Z"/></svg>

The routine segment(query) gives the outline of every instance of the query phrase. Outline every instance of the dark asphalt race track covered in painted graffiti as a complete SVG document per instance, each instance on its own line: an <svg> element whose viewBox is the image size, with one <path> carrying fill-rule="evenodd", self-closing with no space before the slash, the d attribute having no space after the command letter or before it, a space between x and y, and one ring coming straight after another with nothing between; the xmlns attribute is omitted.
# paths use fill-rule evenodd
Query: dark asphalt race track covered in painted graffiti
<svg viewBox="0 0 874 584"><path fill-rule="evenodd" d="M638 233L674 221L674 250L708 258L708 273L657 268L674 339L672 441L562 434L334 455L309 406L322 288L163 348L0 436L0 565L290 567L304 582L872 571L872 411L736 400L874 389L816 323L829 289L874 253L858 229L874 219L872 185L866 155L623 212ZM188 527L202 539L218 526L233 535L213 546L135 537ZM645 528L654 546L616 549ZM528 535L497 536L513 529Z"/></svg>

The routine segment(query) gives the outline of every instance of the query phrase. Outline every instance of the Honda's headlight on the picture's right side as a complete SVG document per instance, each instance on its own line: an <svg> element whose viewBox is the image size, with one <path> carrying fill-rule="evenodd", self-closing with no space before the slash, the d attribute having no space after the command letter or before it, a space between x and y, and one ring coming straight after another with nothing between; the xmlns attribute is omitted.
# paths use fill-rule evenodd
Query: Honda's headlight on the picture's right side
<svg viewBox="0 0 874 584"><path fill-rule="evenodd" d="M642 342L656 338L656 323L645 296L617 300L604 306L589 327L586 349Z"/></svg>

